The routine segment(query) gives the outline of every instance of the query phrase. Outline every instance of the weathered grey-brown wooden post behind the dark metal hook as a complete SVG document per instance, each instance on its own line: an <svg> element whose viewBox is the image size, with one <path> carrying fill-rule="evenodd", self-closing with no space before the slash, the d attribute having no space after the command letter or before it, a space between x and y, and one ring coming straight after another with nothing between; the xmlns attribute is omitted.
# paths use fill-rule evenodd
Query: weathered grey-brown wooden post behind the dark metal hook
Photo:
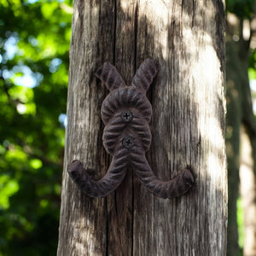
<svg viewBox="0 0 256 256"><path fill-rule="evenodd" d="M110 61L131 84L148 57L160 63L148 91L148 162L162 179L191 166L196 184L160 199L128 172L107 198L90 198L67 165L81 160L95 179L108 170L100 115L108 91L94 73ZM225 255L224 108L221 1L75 1L58 255Z"/></svg>

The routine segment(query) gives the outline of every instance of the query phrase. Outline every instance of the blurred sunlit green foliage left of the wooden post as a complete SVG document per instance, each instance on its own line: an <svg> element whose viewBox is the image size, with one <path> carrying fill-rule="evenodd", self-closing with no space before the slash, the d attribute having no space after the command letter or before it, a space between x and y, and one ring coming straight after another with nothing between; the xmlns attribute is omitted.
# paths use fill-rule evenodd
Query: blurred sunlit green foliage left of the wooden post
<svg viewBox="0 0 256 256"><path fill-rule="evenodd" d="M71 4L0 1L0 255L56 253Z"/></svg>

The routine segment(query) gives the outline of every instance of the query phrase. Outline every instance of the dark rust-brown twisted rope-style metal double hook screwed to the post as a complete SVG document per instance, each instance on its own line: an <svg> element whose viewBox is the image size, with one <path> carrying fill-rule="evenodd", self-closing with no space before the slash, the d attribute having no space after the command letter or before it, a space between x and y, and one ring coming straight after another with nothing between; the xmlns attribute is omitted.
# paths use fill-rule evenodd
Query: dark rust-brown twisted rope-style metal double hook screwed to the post
<svg viewBox="0 0 256 256"><path fill-rule="evenodd" d="M80 189L92 197L104 197L117 189L131 166L143 185L154 195L173 198L184 195L195 183L195 173L186 168L177 177L162 181L155 177L145 152L150 147L149 121L152 107L146 92L158 73L158 62L147 59L138 68L131 85L125 85L116 68L109 62L96 72L96 77L107 85L110 93L102 103L103 145L113 155L108 172L95 181L79 160L74 160L67 171Z"/></svg>

